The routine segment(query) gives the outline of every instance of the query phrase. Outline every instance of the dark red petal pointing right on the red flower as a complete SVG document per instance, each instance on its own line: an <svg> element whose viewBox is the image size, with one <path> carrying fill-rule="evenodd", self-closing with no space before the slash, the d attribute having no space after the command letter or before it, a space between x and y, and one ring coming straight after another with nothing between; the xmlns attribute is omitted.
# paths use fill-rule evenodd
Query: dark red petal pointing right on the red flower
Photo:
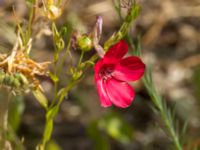
<svg viewBox="0 0 200 150"><path fill-rule="evenodd" d="M122 59L115 67L113 76L121 81L135 81L142 77L145 64L136 56Z"/></svg>

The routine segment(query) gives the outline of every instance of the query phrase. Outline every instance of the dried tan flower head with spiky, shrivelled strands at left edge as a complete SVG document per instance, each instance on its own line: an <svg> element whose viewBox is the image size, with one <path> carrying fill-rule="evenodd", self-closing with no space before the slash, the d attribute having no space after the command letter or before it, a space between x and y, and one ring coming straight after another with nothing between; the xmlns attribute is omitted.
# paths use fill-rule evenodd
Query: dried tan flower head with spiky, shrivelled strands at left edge
<svg viewBox="0 0 200 150"><path fill-rule="evenodd" d="M18 40L10 54L0 54L0 83L15 91L40 87L37 75L46 75L49 62L38 63L27 52L31 48L31 40L25 48Z"/></svg>

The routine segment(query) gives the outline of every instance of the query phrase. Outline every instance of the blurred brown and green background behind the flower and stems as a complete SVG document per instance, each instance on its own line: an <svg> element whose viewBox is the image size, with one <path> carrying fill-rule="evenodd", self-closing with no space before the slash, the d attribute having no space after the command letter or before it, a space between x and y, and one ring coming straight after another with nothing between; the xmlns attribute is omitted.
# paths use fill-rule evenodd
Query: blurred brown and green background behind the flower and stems
<svg viewBox="0 0 200 150"><path fill-rule="evenodd" d="M152 65L158 91L169 107L176 106L175 115L180 126L188 122L184 148L200 148L200 1L138 0L138 3L142 11L131 27L132 40L141 36L142 59L147 66ZM13 8L22 23L27 21L25 0L0 0L1 52L10 52L16 39ZM111 0L71 0L63 5L63 9L57 24L65 25L69 32L89 33L96 16L102 16L102 44L122 23ZM130 53L133 49L130 47ZM76 60L80 52L72 50L72 55ZM31 57L41 62L52 60L50 36L42 35L34 40ZM151 109L152 102L142 81L133 84L137 94L129 108L102 108L93 74L91 67L63 101L47 150L171 149L170 140L158 126L162 126L162 122ZM65 70L61 79L67 80ZM52 82L41 78L41 83L51 98ZM13 98L9 122L16 149L20 147L20 141L25 149L35 149L42 137L44 121L45 111L32 95Z"/></svg>

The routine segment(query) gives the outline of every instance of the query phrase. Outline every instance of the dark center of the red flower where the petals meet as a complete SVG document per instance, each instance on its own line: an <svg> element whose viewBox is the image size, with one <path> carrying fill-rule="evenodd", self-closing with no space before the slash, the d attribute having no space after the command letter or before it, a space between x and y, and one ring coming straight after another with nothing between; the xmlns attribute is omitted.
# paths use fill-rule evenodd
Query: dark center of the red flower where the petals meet
<svg viewBox="0 0 200 150"><path fill-rule="evenodd" d="M113 70L114 70L114 66L104 66L101 68L101 70L99 72L99 76L103 80L108 80L108 79L112 78Z"/></svg>

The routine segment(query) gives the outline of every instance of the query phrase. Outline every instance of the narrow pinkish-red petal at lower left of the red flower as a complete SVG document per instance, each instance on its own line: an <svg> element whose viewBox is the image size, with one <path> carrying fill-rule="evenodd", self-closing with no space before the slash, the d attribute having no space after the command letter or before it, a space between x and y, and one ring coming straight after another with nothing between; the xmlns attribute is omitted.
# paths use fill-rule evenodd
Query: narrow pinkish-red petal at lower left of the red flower
<svg viewBox="0 0 200 150"><path fill-rule="evenodd" d="M109 99L109 97L106 93L106 90L105 90L106 85L103 82L103 80L101 80L101 79L96 80L95 79L95 82L96 82L96 86L97 86L98 95L100 97L101 106L102 107L112 106L112 102L110 101L110 99Z"/></svg>

